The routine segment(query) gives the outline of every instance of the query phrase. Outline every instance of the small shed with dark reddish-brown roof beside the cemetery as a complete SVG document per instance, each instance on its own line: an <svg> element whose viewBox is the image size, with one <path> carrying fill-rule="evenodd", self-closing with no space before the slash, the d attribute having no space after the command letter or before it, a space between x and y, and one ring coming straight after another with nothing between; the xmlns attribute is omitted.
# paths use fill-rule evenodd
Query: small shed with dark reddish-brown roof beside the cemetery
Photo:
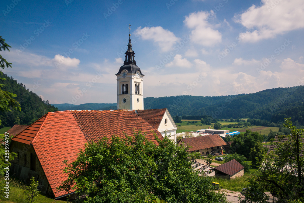
<svg viewBox="0 0 304 203"><path fill-rule="evenodd" d="M213 170L215 171L216 177L227 178L229 180L244 175L244 166L235 159L223 163L222 165L215 167Z"/></svg>

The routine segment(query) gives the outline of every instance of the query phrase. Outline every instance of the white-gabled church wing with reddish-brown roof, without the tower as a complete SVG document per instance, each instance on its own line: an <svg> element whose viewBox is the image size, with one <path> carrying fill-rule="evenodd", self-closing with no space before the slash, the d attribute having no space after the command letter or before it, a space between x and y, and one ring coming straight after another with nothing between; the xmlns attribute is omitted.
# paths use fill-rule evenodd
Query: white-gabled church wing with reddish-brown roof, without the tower
<svg viewBox="0 0 304 203"><path fill-rule="evenodd" d="M177 126L167 108L137 110L137 114L156 128L161 135L168 136L176 143Z"/></svg>

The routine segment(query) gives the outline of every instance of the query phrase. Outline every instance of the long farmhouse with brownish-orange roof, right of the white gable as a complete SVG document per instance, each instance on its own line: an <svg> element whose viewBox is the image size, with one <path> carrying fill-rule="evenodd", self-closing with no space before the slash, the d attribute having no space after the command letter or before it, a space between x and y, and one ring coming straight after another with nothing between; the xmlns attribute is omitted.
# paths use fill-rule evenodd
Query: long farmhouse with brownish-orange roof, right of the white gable
<svg viewBox="0 0 304 203"><path fill-rule="evenodd" d="M223 152L226 142L219 135L203 135L192 138L183 138L178 145L190 146L189 153L199 152L201 156Z"/></svg>

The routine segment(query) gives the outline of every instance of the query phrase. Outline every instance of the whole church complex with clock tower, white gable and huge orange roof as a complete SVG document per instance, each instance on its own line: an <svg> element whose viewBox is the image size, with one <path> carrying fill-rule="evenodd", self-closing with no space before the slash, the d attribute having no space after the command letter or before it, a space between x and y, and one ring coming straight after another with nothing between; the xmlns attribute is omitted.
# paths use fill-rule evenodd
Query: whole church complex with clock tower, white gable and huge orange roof
<svg viewBox="0 0 304 203"><path fill-rule="evenodd" d="M112 135L123 138L140 130L147 140L158 144L168 136L176 143L176 125L168 109L143 107L143 73L136 65L129 34L128 50L117 76L117 110L66 110L48 112L29 126L14 126L10 151L17 157L11 161L10 175L29 183L39 182L40 191L55 199L72 195L58 191L67 180L65 164L77 158L80 148L89 141Z"/></svg>

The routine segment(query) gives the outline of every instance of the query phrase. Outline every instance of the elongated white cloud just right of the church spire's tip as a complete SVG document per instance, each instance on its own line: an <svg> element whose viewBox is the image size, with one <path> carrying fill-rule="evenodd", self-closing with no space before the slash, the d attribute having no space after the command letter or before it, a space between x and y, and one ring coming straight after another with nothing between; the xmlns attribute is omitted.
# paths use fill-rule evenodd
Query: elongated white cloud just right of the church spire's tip
<svg viewBox="0 0 304 203"><path fill-rule="evenodd" d="M169 51L180 39L173 32L165 30L161 26L157 27L138 27L136 35L140 35L143 40L153 40L161 48L161 51Z"/></svg>

